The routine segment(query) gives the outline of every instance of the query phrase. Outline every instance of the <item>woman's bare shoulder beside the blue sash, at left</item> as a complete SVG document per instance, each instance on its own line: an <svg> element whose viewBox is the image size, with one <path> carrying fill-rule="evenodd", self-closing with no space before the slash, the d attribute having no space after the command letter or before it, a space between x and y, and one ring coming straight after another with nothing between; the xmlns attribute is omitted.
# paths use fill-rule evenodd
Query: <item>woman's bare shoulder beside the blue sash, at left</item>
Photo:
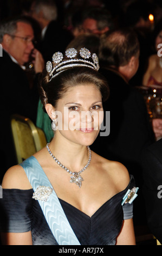
<svg viewBox="0 0 162 256"><path fill-rule="evenodd" d="M7 170L2 181L3 188L17 188L28 190L31 187L24 169L20 165L12 166Z"/></svg>

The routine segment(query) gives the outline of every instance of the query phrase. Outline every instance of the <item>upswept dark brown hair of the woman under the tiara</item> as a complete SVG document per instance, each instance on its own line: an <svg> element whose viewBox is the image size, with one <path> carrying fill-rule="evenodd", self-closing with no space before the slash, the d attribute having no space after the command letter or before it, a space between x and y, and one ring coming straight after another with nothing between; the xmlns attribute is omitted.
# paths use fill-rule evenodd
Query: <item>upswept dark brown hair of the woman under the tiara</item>
<svg viewBox="0 0 162 256"><path fill-rule="evenodd" d="M109 96L106 78L91 68L74 67L64 70L59 75L52 78L51 81L50 78L47 71L44 70L38 87L44 112L46 112L45 106L47 103L56 107L57 101L64 96L69 88L81 84L94 84L102 95L102 101L107 100Z"/></svg>

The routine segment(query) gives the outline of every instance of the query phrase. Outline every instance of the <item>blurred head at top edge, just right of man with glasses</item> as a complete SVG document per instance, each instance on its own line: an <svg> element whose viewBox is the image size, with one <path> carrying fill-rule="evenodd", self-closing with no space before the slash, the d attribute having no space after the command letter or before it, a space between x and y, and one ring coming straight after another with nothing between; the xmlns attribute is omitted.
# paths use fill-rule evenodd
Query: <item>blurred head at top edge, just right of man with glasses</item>
<svg viewBox="0 0 162 256"><path fill-rule="evenodd" d="M50 21L57 19L56 4L52 0L36 0L31 7L31 16L43 29Z"/></svg>

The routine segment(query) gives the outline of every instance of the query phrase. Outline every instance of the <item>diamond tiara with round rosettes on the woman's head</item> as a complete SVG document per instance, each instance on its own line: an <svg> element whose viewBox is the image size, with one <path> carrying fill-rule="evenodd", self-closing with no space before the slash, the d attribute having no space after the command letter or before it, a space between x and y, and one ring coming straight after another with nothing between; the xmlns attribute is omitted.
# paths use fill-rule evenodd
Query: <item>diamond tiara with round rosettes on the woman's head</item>
<svg viewBox="0 0 162 256"><path fill-rule="evenodd" d="M55 52L53 54L53 62L54 62L54 68L53 68L53 64L48 61L46 64L46 69L47 72L49 73L49 76L51 76L51 79L54 78L56 75L60 74L62 71L64 71L67 68L73 68L75 66L86 66L88 68L92 68L96 71L99 70L99 59L98 56L93 53L92 54L92 60L93 62L90 62L89 59L91 57L91 53L87 48L81 48L80 50L80 56L83 59L76 59L76 55L77 55L77 51L75 48L69 48L66 50L65 54L66 57L69 58L67 60L63 60L63 54L61 52ZM54 71L56 72L56 74L53 75Z"/></svg>

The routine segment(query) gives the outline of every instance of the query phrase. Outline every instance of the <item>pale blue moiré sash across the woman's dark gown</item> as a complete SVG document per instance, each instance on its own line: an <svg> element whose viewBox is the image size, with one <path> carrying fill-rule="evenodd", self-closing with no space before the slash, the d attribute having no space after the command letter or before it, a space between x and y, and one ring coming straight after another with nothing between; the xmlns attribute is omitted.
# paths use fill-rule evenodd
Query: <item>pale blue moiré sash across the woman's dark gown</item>
<svg viewBox="0 0 162 256"><path fill-rule="evenodd" d="M35 193L39 190L40 186L47 188L50 187L50 189L53 189L50 181L40 166L40 163L38 163L34 156L23 161L20 166L23 167L27 174ZM77 240L77 237L64 214L54 189L50 192L47 201L38 199L38 202L57 243L59 245L80 245L80 242Z"/></svg>

